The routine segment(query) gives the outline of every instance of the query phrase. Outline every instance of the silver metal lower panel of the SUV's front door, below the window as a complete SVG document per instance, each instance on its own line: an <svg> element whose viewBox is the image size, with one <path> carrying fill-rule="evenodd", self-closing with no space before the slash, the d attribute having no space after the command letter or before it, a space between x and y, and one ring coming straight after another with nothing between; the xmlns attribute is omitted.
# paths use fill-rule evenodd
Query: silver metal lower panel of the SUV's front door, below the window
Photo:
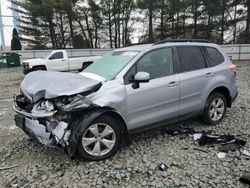
<svg viewBox="0 0 250 188"><path fill-rule="evenodd" d="M139 89L127 85L128 129L178 118L179 77L177 75L141 83ZM175 86L168 86L176 82Z"/></svg>

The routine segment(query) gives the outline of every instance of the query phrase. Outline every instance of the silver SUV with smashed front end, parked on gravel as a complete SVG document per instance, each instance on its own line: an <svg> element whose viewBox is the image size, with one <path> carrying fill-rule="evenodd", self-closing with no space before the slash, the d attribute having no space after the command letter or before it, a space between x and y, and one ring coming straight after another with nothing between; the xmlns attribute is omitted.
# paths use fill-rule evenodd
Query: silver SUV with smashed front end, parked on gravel
<svg viewBox="0 0 250 188"><path fill-rule="evenodd" d="M238 90L221 48L164 40L116 49L83 72L37 71L14 97L16 125L47 146L87 160L114 155L128 135L202 115L223 120Z"/></svg>

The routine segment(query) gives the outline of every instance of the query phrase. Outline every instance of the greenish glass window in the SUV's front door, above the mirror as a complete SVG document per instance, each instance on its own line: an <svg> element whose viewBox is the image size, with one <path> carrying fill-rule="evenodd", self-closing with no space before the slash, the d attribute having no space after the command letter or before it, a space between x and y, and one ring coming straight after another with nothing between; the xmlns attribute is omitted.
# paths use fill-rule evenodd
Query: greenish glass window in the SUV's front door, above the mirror
<svg viewBox="0 0 250 188"><path fill-rule="evenodd" d="M150 79L173 74L172 48L161 48L147 53L137 62L137 72L147 72Z"/></svg>

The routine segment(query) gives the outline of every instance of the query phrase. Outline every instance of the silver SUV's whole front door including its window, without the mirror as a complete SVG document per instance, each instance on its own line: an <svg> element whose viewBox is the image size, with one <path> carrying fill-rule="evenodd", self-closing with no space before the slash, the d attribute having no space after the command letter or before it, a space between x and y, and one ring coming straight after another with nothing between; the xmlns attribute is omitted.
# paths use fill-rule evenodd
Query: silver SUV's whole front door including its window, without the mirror
<svg viewBox="0 0 250 188"><path fill-rule="evenodd" d="M152 50L128 71L125 82L136 72L147 72L151 78L138 89L126 85L128 129L178 118L180 84L179 75L174 74L173 54L169 47Z"/></svg>

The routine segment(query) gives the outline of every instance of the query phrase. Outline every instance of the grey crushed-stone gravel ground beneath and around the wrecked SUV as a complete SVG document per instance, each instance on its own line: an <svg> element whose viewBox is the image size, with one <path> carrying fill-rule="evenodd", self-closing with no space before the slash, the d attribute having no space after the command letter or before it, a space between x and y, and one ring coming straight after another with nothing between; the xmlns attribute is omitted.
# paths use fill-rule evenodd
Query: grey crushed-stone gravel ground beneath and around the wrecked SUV
<svg viewBox="0 0 250 188"><path fill-rule="evenodd" d="M43 147L14 126L11 98L22 78L20 68L0 70L0 187L248 187L239 182L250 173L250 157L242 150L219 159L217 148L199 147L192 135L170 136L163 129L133 135L129 146L100 162ZM207 126L196 118L182 125L237 135L250 152L249 80L250 63L239 63L239 97L223 123ZM166 171L157 168L160 163Z"/></svg>

